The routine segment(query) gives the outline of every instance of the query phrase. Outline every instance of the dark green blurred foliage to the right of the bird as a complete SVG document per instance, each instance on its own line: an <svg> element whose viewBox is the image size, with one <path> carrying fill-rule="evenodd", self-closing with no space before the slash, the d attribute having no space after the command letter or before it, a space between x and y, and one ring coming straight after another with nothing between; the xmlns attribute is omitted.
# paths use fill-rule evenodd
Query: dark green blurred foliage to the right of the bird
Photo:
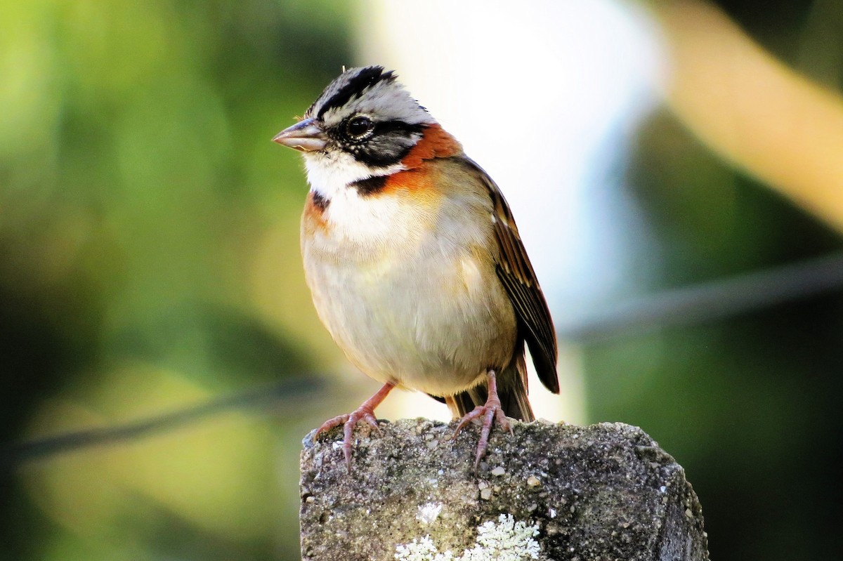
<svg viewBox="0 0 843 561"><path fill-rule="evenodd" d="M843 4L717 4L783 61L840 90ZM658 257L642 263L658 262L659 274L642 291L843 248L840 232L728 167L664 110L639 131L627 175L658 232ZM640 425L674 454L700 496L711 558L839 557L841 340L840 290L626 334L587 349L590 416Z"/></svg>

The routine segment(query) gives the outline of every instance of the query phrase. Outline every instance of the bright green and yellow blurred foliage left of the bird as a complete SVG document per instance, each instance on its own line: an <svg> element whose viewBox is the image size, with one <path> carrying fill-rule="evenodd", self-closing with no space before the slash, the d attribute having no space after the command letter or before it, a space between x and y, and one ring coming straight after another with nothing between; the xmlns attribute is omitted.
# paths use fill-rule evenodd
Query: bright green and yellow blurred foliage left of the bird
<svg viewBox="0 0 843 561"><path fill-rule="evenodd" d="M298 159L270 139L351 60L349 8L0 3L0 440L336 357L298 264ZM305 426L222 414L24 466L0 558L298 558Z"/></svg>

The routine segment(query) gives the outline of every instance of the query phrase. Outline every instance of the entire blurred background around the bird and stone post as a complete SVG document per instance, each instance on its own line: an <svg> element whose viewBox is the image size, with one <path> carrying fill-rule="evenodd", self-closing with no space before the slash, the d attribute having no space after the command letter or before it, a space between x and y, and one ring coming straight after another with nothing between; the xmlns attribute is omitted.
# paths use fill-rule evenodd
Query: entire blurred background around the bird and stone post
<svg viewBox="0 0 843 561"><path fill-rule="evenodd" d="M539 413L647 430L712 558L839 557L840 0L3 0L0 558L299 558L300 441L377 385L269 141L368 63L513 206L562 339Z"/></svg>

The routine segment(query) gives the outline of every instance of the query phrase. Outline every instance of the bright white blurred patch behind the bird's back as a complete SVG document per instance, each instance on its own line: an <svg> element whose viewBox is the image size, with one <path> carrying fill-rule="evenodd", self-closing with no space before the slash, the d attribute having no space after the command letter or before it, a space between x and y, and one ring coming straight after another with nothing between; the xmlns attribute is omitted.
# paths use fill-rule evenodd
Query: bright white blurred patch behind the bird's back
<svg viewBox="0 0 843 561"><path fill-rule="evenodd" d="M501 186L557 326L621 291L649 238L620 183L662 73L647 13L613 0L368 0L359 9L355 63L395 69ZM560 396L531 378L536 415L587 422L579 352L566 341L559 374ZM407 392L390 395L379 416L449 419Z"/></svg>

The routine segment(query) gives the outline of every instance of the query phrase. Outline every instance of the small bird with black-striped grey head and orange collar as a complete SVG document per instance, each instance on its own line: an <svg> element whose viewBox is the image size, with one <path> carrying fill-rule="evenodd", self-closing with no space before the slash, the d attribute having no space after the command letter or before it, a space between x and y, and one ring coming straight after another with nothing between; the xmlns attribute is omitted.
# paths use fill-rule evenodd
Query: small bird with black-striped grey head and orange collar
<svg viewBox="0 0 843 561"><path fill-rule="evenodd" d="M517 135L504 127L502 142ZM553 321L501 190L381 66L343 68L272 140L303 154L300 243L319 319L383 384L316 435L343 426L351 473L357 423L377 429L395 387L421 391L459 419L454 436L481 421L476 471L492 425L534 420L525 346L559 393Z"/></svg>

